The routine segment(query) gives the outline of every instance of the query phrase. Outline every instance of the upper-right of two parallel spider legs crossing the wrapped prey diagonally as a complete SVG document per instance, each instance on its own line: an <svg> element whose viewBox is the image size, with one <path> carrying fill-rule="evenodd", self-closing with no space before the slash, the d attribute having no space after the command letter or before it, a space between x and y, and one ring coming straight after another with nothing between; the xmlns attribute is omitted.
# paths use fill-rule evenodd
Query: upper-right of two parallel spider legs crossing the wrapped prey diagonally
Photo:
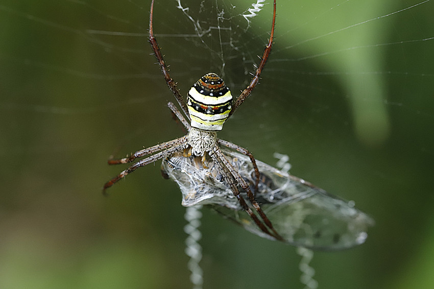
<svg viewBox="0 0 434 289"><path fill-rule="evenodd" d="M215 149L212 152L213 152L213 155L215 156L212 159L214 161L215 161L215 159L217 159L218 162L222 162L222 164L227 168L227 170L230 172L232 177L235 178L236 182L244 189L247 196L249 197L249 201L252 204L252 206L258 212L258 214L260 215L260 217L264 221L264 223L273 231L274 234L270 234L270 235L274 236L278 240L283 240L283 238L279 235L279 233L277 233L277 231L274 229L274 227L271 224L271 221L268 219L267 215L262 211L258 202L256 202L255 197L253 196L252 190L250 189L249 185L246 183L246 181L243 179L243 177L239 175L239 173L235 170L235 168L232 166L232 164L227 160L225 155L220 151L220 148L215 147ZM241 202L240 202L240 204L241 204ZM256 223L256 221L255 221L255 223Z"/></svg>

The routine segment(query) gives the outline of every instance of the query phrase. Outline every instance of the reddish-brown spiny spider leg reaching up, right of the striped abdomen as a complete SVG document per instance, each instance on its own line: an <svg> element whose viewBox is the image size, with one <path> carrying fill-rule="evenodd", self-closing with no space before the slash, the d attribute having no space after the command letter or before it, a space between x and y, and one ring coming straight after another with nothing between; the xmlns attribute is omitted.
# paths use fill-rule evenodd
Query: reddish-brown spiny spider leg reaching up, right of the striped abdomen
<svg viewBox="0 0 434 289"><path fill-rule="evenodd" d="M271 53L271 46L273 45L273 37L274 37L274 24L276 22L276 0L274 0L273 3L273 22L271 25L271 33L270 33L270 39L268 41L267 46L264 49L262 58L261 58L261 62L259 63L258 67L256 68L256 73L253 76L252 80L250 81L249 86L247 86L246 89L244 89L244 91L239 95L239 97L236 99L235 103L232 106L232 110L229 113L230 117L235 110L249 97L250 93L252 92L253 88L255 88L255 86L258 84L259 82L259 76L261 74L262 69L264 68L268 57L270 56Z"/></svg>

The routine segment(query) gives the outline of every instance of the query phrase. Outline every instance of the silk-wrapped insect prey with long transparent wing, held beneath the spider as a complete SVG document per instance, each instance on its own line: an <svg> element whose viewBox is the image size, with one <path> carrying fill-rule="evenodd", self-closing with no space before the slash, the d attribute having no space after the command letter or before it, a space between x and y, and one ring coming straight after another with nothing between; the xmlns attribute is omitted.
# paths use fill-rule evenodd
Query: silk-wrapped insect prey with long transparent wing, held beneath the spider
<svg viewBox="0 0 434 289"><path fill-rule="evenodd" d="M250 159L222 148L228 160L254 191ZM250 232L274 239L256 227L241 208L221 172L211 160L175 153L162 162L162 171L178 183L182 205L208 205ZM302 179L257 161L260 171L255 198L287 243L313 249L340 250L365 242L374 221L353 202L334 197ZM242 193L243 194L243 193ZM246 199L247 196L246 196Z"/></svg>

